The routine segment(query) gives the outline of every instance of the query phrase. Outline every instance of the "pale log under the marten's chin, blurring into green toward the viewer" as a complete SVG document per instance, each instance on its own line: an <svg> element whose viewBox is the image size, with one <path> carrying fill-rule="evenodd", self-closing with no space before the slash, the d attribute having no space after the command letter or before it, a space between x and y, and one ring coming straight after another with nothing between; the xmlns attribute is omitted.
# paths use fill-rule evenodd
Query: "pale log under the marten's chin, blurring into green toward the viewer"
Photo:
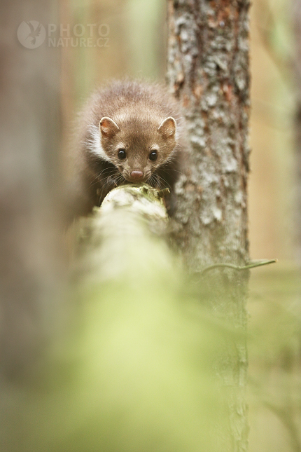
<svg viewBox="0 0 301 452"><path fill-rule="evenodd" d="M225 446L227 404L213 357L229 332L186 291L163 194L118 187L78 224L72 302L80 327L59 351L63 362L75 358L76 397L69 392L59 413L71 430L56 451Z"/></svg>

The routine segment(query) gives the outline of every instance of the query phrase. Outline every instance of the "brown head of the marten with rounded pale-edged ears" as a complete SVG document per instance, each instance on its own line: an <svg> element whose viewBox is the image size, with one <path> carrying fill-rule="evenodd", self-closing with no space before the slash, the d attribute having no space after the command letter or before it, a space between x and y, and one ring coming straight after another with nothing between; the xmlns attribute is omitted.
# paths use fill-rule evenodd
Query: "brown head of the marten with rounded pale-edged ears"
<svg viewBox="0 0 301 452"><path fill-rule="evenodd" d="M146 182L172 158L176 121L168 118L104 116L99 121L100 156L113 163L128 182Z"/></svg>

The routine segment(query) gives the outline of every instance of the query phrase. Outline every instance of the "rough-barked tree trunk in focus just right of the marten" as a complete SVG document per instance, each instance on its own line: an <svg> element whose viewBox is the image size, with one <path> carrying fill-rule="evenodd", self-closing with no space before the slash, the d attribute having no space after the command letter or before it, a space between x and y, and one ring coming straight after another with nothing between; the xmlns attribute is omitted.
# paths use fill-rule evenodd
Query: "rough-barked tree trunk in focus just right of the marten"
<svg viewBox="0 0 301 452"><path fill-rule="evenodd" d="M216 262L248 261L248 0L168 0L170 89L183 105L190 149L177 186L179 242L192 272ZM242 336L218 363L229 390L223 450L246 451L247 273L214 270L211 304ZM230 374L225 369L232 369Z"/></svg>

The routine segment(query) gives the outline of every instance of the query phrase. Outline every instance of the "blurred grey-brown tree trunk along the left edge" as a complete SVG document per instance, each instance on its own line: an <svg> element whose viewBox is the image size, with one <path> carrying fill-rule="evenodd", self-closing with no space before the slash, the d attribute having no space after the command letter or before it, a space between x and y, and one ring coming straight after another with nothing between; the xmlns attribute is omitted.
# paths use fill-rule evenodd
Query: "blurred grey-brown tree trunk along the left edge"
<svg viewBox="0 0 301 452"><path fill-rule="evenodd" d="M35 361L62 306L59 54L22 47L16 36L35 15L56 22L54 2L1 5L1 381Z"/></svg>

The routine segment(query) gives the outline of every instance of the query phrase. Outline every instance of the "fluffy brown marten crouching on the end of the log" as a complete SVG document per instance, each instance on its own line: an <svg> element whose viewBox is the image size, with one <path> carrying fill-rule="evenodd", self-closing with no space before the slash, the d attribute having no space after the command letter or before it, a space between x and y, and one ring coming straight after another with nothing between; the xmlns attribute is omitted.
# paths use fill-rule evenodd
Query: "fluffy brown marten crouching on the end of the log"
<svg viewBox="0 0 301 452"><path fill-rule="evenodd" d="M168 187L172 212L184 130L179 105L160 85L116 81L93 93L78 115L72 146L73 216L87 214L111 189L128 182ZM120 149L126 152L123 160ZM155 161L152 151L158 153Z"/></svg>

